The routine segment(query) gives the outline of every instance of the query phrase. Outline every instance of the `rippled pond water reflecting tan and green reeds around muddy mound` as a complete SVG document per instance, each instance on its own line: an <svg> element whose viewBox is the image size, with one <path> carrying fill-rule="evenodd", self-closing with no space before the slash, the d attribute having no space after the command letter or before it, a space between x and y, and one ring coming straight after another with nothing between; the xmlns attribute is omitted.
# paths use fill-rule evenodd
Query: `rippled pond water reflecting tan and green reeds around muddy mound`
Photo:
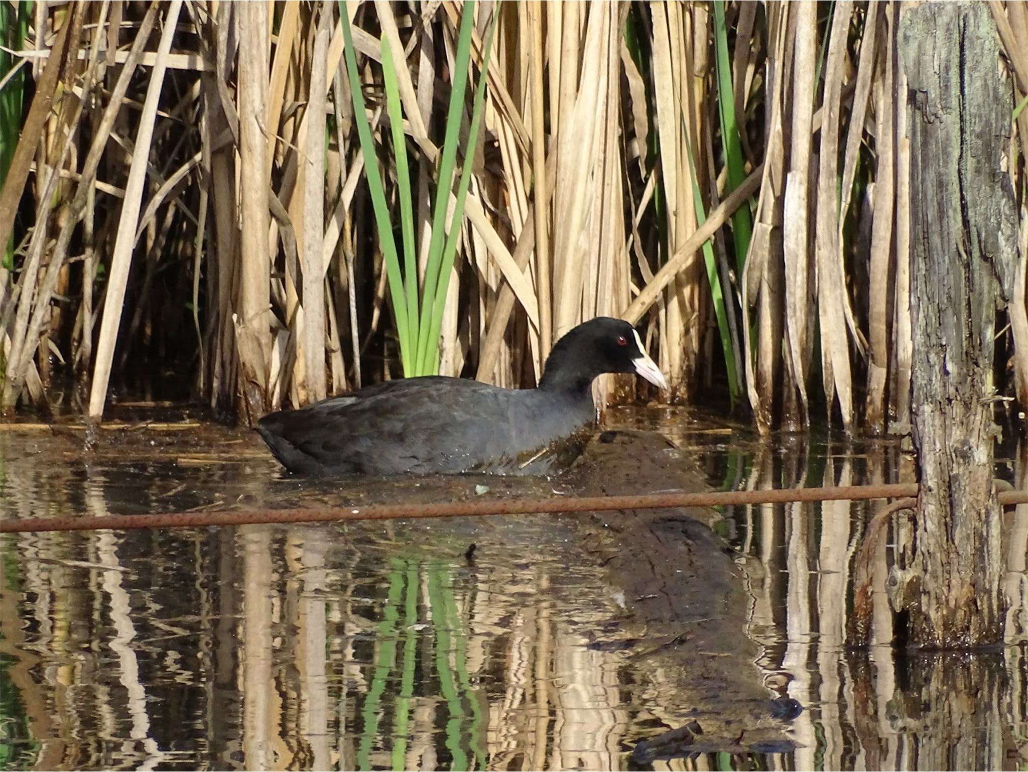
<svg viewBox="0 0 1028 772"><path fill-rule="evenodd" d="M765 444L686 411L611 422L660 428L714 488L911 479L893 441ZM81 440L0 427L0 517L561 486L301 481L250 433L189 422L105 430L90 454ZM1017 452L997 466L1023 485ZM715 525L746 579L755 677L768 704L803 707L779 716L787 752L658 742L682 735L695 695L628 635L625 598L573 516L4 537L0 768L1028 769L1028 508L1005 514L1009 644L971 657L895 653L884 580L873 646L847 649L877 506L728 508ZM875 546L876 576L894 537Z"/></svg>

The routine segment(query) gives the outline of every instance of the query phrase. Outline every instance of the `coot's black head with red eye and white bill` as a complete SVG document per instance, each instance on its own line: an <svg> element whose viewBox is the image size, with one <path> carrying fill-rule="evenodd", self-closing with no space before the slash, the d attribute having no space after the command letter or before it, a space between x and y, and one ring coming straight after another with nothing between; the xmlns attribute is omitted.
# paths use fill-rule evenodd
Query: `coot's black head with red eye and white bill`
<svg viewBox="0 0 1028 772"><path fill-rule="evenodd" d="M539 388L581 392L604 372L634 372L667 389L664 375L642 350L635 329L610 317L584 322L560 338L546 360Z"/></svg>

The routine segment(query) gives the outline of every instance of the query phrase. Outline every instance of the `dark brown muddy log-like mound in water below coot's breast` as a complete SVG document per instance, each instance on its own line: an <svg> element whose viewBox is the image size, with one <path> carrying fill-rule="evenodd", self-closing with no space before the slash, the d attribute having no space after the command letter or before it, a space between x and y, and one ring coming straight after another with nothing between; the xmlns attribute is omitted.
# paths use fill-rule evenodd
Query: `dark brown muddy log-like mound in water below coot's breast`
<svg viewBox="0 0 1028 772"><path fill-rule="evenodd" d="M565 481L583 495L703 490L699 472L652 432L604 432ZM705 508L593 513L579 519L609 580L620 588L624 624L595 647L634 654L652 710L669 731L635 750L637 762L697 751L792 748L785 729L801 706L761 682L759 648L745 633L750 596L742 557ZM619 597L620 600L620 597Z"/></svg>

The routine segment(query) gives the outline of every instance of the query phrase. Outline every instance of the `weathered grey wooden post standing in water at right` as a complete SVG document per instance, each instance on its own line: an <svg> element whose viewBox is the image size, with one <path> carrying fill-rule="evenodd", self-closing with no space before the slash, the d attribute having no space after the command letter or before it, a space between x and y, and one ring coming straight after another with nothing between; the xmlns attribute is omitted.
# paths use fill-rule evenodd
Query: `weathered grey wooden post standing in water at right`
<svg viewBox="0 0 1028 772"><path fill-rule="evenodd" d="M921 495L913 561L892 577L896 632L923 648L1002 640L992 489L993 328L1017 218L1002 158L1013 97L985 3L927 3L900 24L911 141L912 424Z"/></svg>

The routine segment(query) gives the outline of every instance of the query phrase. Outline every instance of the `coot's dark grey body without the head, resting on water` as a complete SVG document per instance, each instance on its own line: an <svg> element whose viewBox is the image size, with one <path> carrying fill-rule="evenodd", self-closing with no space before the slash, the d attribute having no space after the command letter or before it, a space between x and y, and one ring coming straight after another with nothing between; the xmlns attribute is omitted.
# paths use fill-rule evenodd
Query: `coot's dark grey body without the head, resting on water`
<svg viewBox="0 0 1028 772"><path fill-rule="evenodd" d="M595 412L588 392L428 376L271 413L257 431L294 472L511 474L546 471L550 454L533 456L592 425Z"/></svg>

